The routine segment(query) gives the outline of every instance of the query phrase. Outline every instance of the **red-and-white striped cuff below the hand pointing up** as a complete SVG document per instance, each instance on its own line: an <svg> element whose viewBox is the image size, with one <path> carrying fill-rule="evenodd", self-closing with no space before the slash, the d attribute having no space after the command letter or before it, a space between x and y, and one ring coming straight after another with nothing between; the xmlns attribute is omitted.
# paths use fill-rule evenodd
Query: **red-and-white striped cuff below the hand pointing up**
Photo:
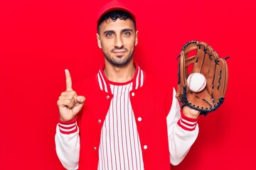
<svg viewBox="0 0 256 170"><path fill-rule="evenodd" d="M70 120L68 122L65 121L61 121L59 118L59 123L58 123L58 127L60 129L60 132L63 134L70 134L73 132L77 132L78 131L78 126L77 126L77 116L75 116L75 118L73 120Z"/></svg>

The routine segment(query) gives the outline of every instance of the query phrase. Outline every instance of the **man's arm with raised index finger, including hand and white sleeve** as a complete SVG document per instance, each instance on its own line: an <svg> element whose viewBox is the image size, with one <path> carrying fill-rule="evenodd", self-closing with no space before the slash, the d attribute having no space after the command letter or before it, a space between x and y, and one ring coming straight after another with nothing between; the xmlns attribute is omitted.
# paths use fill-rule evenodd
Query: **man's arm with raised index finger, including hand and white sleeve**
<svg viewBox="0 0 256 170"><path fill-rule="evenodd" d="M85 103L84 96L78 96L72 89L70 72L65 69L66 91L58 98L60 120L56 128L55 146L58 158L68 170L78 169L80 137L77 114Z"/></svg>

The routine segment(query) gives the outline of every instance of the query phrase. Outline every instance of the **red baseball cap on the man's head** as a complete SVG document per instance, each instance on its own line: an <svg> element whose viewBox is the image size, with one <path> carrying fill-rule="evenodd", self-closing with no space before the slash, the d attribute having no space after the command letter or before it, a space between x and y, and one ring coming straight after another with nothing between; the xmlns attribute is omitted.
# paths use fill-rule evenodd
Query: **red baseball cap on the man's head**
<svg viewBox="0 0 256 170"><path fill-rule="evenodd" d="M125 11L125 12L129 13L132 16L132 19L135 21L134 13L129 8L128 4L124 4L124 2L120 2L118 0L113 0L113 1L110 1L109 3L105 4L104 6L102 6L102 8L100 8L98 15L97 15L97 24L99 23L100 18L105 13L108 13L110 11L117 11L117 10Z"/></svg>

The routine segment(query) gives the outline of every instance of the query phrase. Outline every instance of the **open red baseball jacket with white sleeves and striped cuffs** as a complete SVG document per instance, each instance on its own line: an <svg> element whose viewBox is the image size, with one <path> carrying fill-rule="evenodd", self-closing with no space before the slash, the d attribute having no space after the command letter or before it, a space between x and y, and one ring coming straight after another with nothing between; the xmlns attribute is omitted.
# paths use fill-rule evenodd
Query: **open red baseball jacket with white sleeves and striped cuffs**
<svg viewBox="0 0 256 170"><path fill-rule="evenodd" d="M135 65L134 81L138 77L144 79L144 84L134 87L129 98L142 145L144 169L169 170L170 162L179 164L196 140L197 119L180 112L170 84L146 72L142 77L139 74L142 70ZM104 74L102 70L99 74ZM56 152L66 169L97 169L102 124L113 97L109 84L99 83L99 74L73 87L78 95L85 96L85 104L74 120L60 121L57 125ZM102 90L102 86L108 90Z"/></svg>

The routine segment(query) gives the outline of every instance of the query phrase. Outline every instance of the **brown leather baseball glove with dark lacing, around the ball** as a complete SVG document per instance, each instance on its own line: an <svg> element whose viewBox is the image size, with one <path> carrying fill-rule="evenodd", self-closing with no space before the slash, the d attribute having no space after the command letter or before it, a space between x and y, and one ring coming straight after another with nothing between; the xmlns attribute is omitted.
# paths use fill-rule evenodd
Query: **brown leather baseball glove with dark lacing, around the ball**
<svg viewBox="0 0 256 170"><path fill-rule="evenodd" d="M189 53L195 53L188 57ZM224 101L228 87L228 65L206 42L190 41L183 46L178 56L178 89L176 98L181 106L189 106L201 114L215 111ZM195 93L188 89L187 78L192 73L206 77L206 88Z"/></svg>

